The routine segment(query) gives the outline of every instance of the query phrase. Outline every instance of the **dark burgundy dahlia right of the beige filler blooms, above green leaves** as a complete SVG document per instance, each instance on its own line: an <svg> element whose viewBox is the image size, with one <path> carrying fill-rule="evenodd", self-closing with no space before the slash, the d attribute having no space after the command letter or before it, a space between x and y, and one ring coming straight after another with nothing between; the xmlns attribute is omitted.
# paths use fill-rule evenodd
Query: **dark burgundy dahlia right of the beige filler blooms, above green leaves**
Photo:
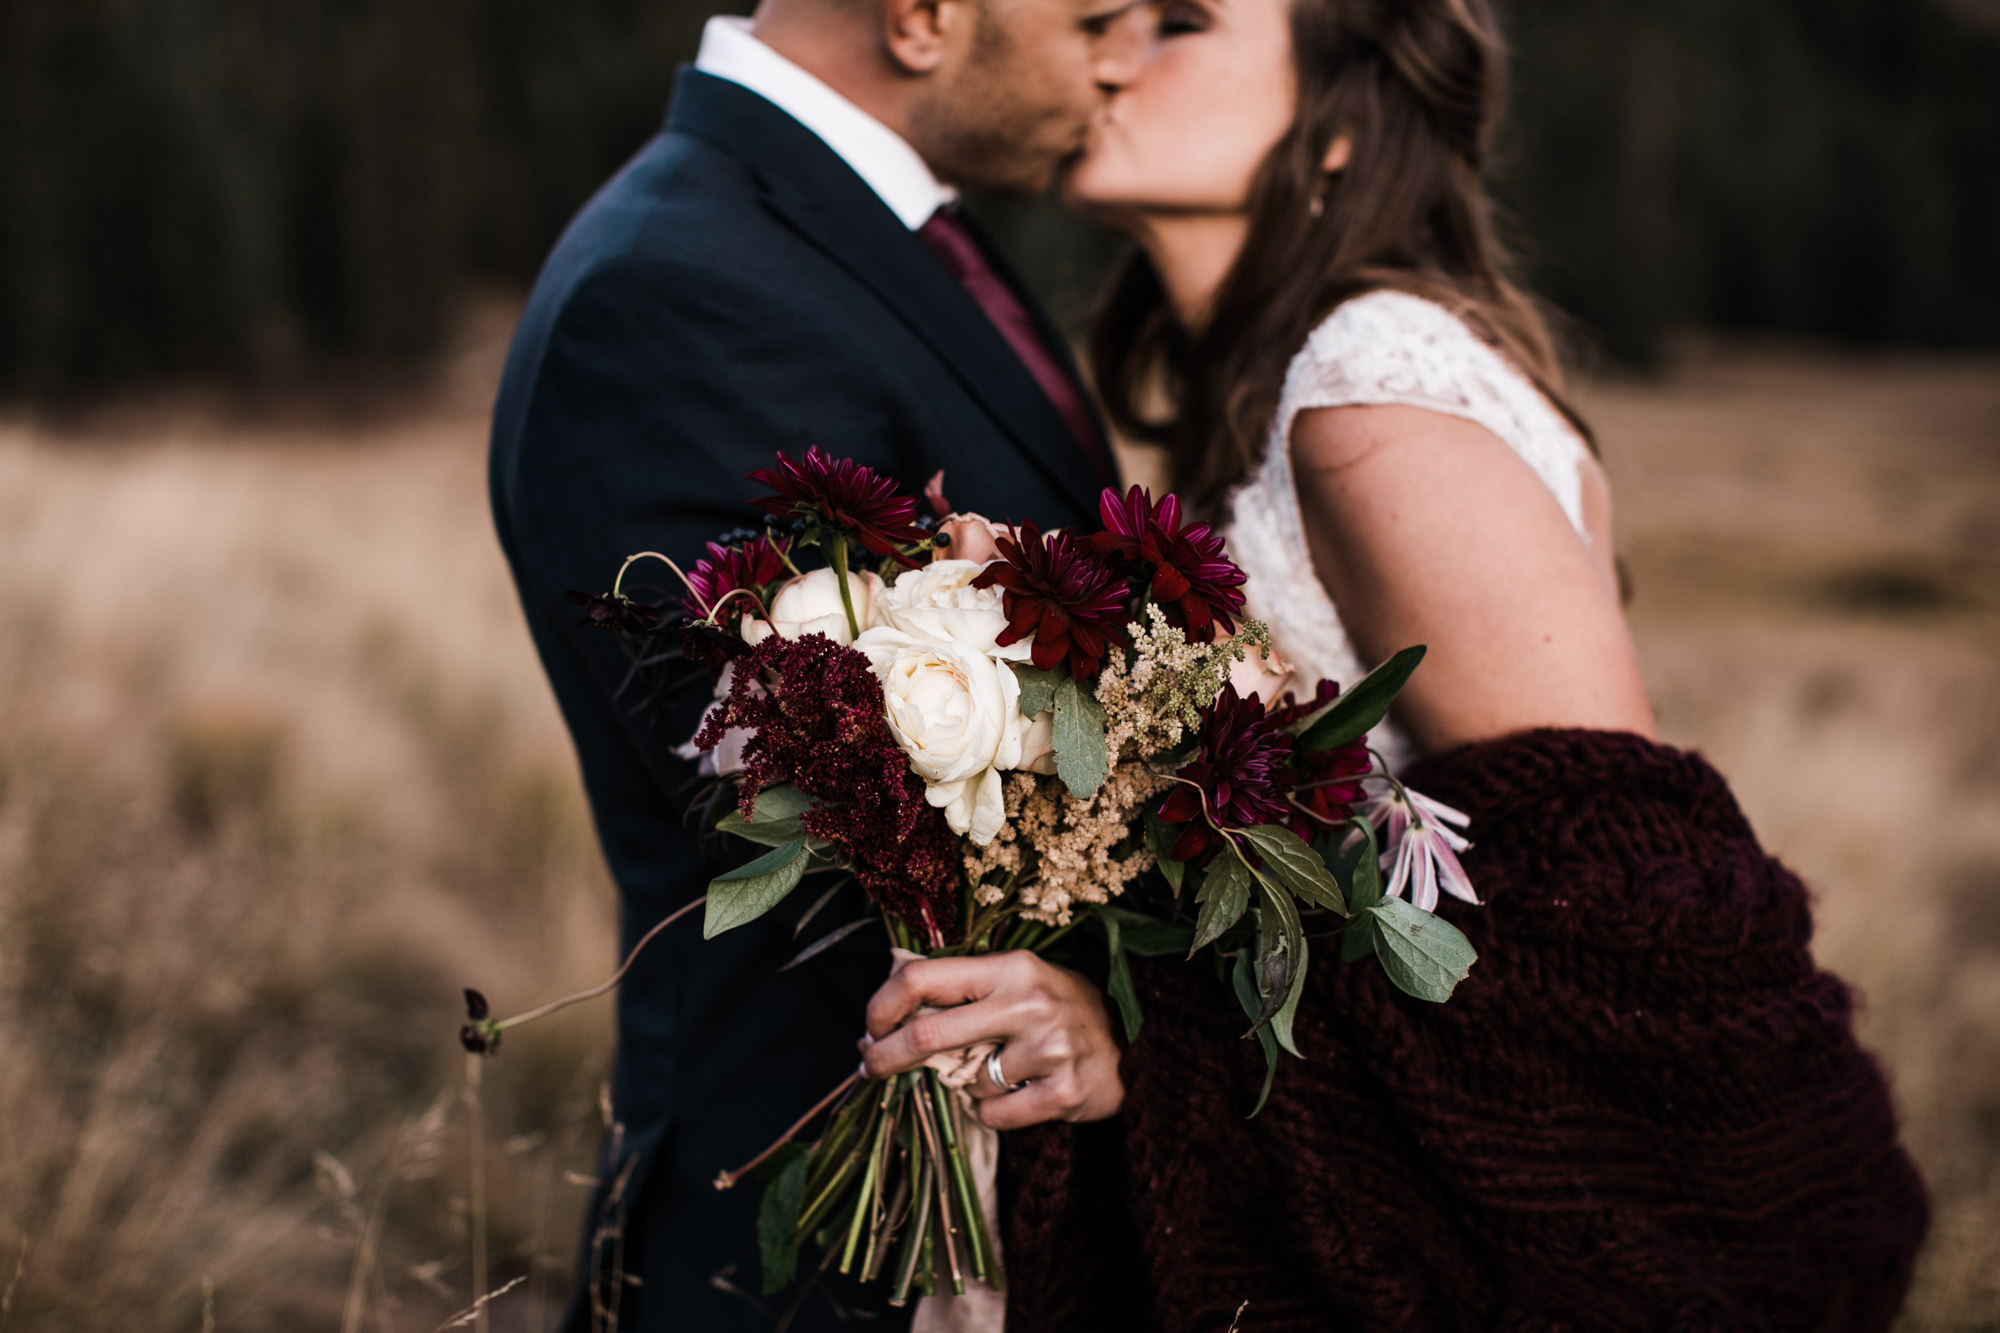
<svg viewBox="0 0 2000 1333"><path fill-rule="evenodd" d="M1292 737L1264 713L1264 701L1240 699L1224 685L1202 711L1202 749L1174 773L1186 783L1176 783L1158 811L1166 823L1186 825L1168 855L1206 861L1220 845L1210 819L1224 829L1290 823L1286 793L1298 781L1290 759Z"/></svg>

